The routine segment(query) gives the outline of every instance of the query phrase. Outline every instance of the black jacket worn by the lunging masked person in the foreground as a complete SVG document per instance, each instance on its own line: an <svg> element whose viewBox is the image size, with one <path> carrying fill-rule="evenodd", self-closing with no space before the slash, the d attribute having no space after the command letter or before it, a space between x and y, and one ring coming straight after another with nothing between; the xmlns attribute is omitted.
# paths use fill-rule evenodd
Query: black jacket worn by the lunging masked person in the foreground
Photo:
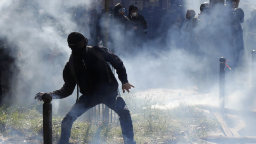
<svg viewBox="0 0 256 144"><path fill-rule="evenodd" d="M116 73L122 84L128 83L123 61L116 54L102 46L93 46L92 49L101 53L103 58L116 69ZM69 66L68 61L63 69L63 80L65 84L63 84L60 90L52 92L52 94L57 94L60 99L71 95L76 86L75 78L71 75ZM117 91L118 83L110 67L107 65L107 70L105 62L89 51L88 48L82 58L74 56L74 67L79 90L82 94L93 96ZM109 82L109 76L111 82Z"/></svg>

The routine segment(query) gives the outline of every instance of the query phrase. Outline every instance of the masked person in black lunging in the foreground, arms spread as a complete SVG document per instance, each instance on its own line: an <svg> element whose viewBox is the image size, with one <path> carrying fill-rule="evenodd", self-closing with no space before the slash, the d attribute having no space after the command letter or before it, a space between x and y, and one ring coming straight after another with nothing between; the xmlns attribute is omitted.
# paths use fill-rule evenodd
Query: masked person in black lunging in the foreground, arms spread
<svg viewBox="0 0 256 144"><path fill-rule="evenodd" d="M123 92L125 92L125 90L130 92L129 89L134 86L127 80L123 61L106 47L86 46L87 38L77 32L69 34L68 44L72 50L75 74L82 95L63 118L59 143L68 143L71 127L77 117L100 103L113 109L120 117L119 121L124 143L136 143L133 139L134 134L130 111L123 98L118 95L118 83L114 74L111 73L110 67L105 65L106 62L109 62L116 69L118 78L122 82ZM100 57L98 57L99 55L92 52L92 49L97 51L103 59L100 59ZM51 93L39 92L36 94L35 99L42 100L42 97L46 97L45 95L49 94L52 95L53 99L62 99L73 93L76 82L75 78L71 75L69 62L70 61L67 62L63 70L63 79L65 82L63 87Z"/></svg>

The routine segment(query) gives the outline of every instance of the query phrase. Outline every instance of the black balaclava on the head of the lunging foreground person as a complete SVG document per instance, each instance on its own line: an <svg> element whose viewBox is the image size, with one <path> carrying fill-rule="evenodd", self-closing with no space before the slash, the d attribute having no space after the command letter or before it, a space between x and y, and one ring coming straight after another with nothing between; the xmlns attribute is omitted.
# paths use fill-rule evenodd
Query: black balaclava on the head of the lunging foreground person
<svg viewBox="0 0 256 144"><path fill-rule="evenodd" d="M72 54L81 55L86 48L87 39L78 32L73 32L68 35L68 46L72 50Z"/></svg>

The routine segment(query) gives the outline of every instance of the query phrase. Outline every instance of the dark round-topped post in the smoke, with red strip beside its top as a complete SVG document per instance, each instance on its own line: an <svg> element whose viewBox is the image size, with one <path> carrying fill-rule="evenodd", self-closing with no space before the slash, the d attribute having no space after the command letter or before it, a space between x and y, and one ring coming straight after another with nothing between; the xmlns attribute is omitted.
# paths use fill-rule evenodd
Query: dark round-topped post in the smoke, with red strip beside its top
<svg viewBox="0 0 256 144"><path fill-rule="evenodd" d="M219 107L221 110L225 108L225 62L224 57L220 58L220 87L219 87Z"/></svg>

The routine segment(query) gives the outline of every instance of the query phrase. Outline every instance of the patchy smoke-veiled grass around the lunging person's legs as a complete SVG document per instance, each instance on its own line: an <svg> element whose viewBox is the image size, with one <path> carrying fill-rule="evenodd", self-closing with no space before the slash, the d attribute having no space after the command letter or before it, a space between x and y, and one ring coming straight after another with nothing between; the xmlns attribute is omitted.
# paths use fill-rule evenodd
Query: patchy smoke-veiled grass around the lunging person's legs
<svg viewBox="0 0 256 144"><path fill-rule="evenodd" d="M202 143L200 137L218 129L215 119L207 118L202 109L186 102L167 108L164 99L154 94L141 97L131 93L122 97L130 106L137 143ZM0 118L3 137L18 135L27 141L37 139L37 143L43 143L42 107L1 107ZM54 142L60 139L62 118L53 116ZM119 121L103 125L100 121L77 120L71 129L70 142L123 143Z"/></svg>

